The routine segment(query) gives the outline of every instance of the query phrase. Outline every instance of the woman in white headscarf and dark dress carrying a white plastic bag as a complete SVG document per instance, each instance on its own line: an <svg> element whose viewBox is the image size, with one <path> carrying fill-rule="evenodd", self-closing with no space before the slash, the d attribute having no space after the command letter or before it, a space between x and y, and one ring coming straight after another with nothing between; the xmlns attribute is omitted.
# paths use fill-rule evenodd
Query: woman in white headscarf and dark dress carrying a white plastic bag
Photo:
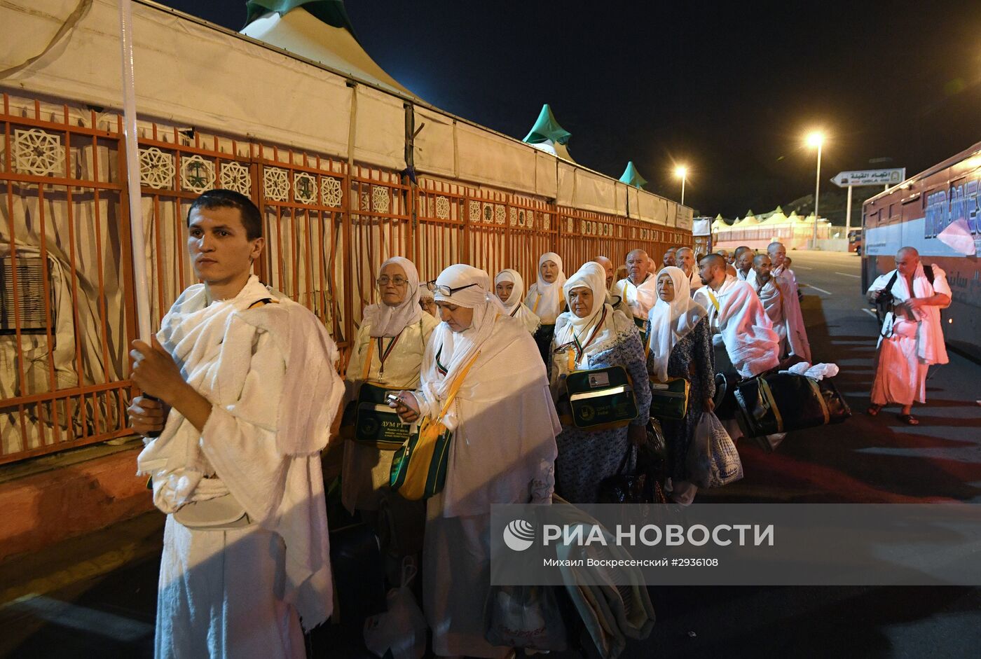
<svg viewBox="0 0 981 659"><path fill-rule="evenodd" d="M667 443L671 497L691 503L696 487L688 481L688 449L698 419L714 409L715 357L705 308L692 299L690 281L680 268L657 273L657 302L647 315L647 370L651 380L684 378L691 382L684 419L661 420Z"/></svg>

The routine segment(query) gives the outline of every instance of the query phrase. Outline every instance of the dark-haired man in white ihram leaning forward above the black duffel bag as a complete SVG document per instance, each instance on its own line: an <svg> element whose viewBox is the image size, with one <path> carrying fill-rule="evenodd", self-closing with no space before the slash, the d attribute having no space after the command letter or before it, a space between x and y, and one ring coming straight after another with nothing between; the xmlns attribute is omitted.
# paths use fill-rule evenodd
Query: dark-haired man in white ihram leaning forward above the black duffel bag
<svg viewBox="0 0 981 659"><path fill-rule="evenodd" d="M708 311L717 370L735 370L751 378L776 368L780 364L780 338L752 286L726 275L725 259L718 254L701 259L698 276L705 285L698 289L695 299ZM727 364L731 368L726 368Z"/></svg>

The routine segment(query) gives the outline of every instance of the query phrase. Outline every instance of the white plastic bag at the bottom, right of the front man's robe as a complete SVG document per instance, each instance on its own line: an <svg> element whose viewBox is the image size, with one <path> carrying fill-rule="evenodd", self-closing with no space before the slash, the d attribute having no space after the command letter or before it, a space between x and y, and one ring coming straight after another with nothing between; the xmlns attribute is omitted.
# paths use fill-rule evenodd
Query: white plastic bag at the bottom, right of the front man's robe
<svg viewBox="0 0 981 659"><path fill-rule="evenodd" d="M426 654L426 617L409 584L418 572L412 559L402 561L402 584L388 591L388 610L365 620L365 645L376 656L391 653L393 659L422 659Z"/></svg>

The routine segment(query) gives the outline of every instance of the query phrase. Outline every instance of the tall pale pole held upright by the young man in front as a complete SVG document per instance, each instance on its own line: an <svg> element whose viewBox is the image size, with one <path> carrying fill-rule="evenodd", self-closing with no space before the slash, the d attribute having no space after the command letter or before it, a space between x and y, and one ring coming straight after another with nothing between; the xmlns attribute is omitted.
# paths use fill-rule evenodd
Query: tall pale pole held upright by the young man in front
<svg viewBox="0 0 981 659"><path fill-rule="evenodd" d="M132 9L120 0L120 33L123 53L123 133L126 137L126 170L129 192L129 236L132 249L132 284L136 298L136 327L139 338L150 340L150 296L146 281L143 211L139 190L139 152L136 137L136 83L132 66Z"/></svg>

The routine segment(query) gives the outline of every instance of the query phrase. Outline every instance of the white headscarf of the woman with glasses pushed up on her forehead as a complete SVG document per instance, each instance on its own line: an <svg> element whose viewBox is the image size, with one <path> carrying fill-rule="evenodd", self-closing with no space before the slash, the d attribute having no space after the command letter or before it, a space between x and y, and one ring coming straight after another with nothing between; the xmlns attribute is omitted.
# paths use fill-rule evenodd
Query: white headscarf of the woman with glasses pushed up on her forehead
<svg viewBox="0 0 981 659"><path fill-rule="evenodd" d="M439 363L446 369L446 376L436 384L432 393L442 399L457 373L463 370L490 337L497 315L506 312L497 296L490 292L490 275L479 268L464 264L450 266L439 273L436 283L438 286L458 289L451 295L436 290L434 297L437 302L448 302L474 310L474 320L468 329L453 331L446 323L440 323L433 330L430 340L439 355Z"/></svg>

